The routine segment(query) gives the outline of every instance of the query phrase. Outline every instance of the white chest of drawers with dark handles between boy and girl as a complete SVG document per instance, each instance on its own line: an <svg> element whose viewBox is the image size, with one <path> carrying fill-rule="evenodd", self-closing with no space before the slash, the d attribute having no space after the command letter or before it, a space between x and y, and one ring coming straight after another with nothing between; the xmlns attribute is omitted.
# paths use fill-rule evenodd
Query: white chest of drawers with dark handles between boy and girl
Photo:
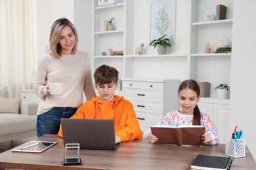
<svg viewBox="0 0 256 170"><path fill-rule="evenodd" d="M133 107L144 131L171 111L179 109L179 80L123 78L122 91Z"/></svg>

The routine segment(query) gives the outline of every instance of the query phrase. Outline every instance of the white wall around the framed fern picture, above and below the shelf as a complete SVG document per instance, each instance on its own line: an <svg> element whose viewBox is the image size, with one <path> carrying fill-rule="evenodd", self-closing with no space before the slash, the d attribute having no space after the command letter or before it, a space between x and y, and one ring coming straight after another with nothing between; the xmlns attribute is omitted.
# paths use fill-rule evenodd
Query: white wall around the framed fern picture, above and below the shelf
<svg viewBox="0 0 256 170"><path fill-rule="evenodd" d="M144 54L156 55L157 48L150 44L150 2L148 0L134 1L134 36L133 46L144 42ZM188 14L187 0L177 1L175 44L168 50L171 54L187 54L188 47ZM145 64L146 60L146 64ZM175 61L173 61L175 60ZM186 58L134 58L133 77L161 77L186 79ZM156 64L157 63L157 64ZM172 74L170 74L170 72ZM177 74L175 73L177 72ZM179 73L178 73L179 72ZM182 76L181 76L182 75Z"/></svg>

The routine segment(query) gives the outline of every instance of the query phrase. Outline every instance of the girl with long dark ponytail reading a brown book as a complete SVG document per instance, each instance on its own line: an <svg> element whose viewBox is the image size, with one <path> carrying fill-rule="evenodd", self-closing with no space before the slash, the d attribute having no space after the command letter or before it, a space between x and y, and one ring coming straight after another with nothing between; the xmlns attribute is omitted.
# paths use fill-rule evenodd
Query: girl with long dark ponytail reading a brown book
<svg viewBox="0 0 256 170"><path fill-rule="evenodd" d="M179 86L179 105L181 110L168 112L158 125L171 124L173 126L181 125L201 125L205 127L205 133L202 135L202 141L205 144L218 144L218 131L210 116L201 113L198 108L200 100L200 87L195 80L184 80ZM158 137L148 135L148 141L155 143Z"/></svg>

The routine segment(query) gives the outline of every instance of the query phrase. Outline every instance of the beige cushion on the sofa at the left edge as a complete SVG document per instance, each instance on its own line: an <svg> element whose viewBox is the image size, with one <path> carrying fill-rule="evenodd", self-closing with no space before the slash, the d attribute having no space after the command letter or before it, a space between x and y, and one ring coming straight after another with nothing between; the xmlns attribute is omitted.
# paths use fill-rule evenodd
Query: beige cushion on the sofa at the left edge
<svg viewBox="0 0 256 170"><path fill-rule="evenodd" d="M19 113L21 99L0 98L0 113Z"/></svg>

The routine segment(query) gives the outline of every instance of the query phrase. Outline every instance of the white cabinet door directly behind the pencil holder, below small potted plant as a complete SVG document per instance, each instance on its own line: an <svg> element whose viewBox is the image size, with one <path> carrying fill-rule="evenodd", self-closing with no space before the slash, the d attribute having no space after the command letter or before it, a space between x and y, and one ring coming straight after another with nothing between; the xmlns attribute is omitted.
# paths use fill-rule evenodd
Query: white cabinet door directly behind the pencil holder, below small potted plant
<svg viewBox="0 0 256 170"><path fill-rule="evenodd" d="M230 109L229 105L213 105L214 123L217 126L220 143L226 143L226 137L231 136L229 131Z"/></svg>

